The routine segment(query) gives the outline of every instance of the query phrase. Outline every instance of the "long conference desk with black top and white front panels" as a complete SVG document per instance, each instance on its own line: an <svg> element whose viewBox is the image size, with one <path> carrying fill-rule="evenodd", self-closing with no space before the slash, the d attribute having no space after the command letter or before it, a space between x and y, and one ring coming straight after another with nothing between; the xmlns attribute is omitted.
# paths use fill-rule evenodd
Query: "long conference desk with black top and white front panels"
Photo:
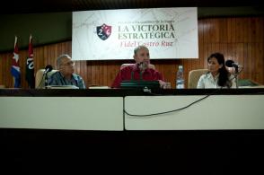
<svg viewBox="0 0 264 175"><path fill-rule="evenodd" d="M264 89L8 90L0 127L66 130L264 129ZM173 111L175 110L175 111Z"/></svg>

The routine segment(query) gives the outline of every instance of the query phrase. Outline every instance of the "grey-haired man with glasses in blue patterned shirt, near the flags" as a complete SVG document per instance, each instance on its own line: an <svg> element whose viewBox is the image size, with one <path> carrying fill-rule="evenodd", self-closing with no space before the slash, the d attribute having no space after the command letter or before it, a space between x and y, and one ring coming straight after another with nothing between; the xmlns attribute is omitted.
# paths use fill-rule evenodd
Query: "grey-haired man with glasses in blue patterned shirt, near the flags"
<svg viewBox="0 0 264 175"><path fill-rule="evenodd" d="M57 57L58 71L52 74L48 79L49 85L75 85L79 89L85 89L83 78L74 74L75 62L67 54Z"/></svg>

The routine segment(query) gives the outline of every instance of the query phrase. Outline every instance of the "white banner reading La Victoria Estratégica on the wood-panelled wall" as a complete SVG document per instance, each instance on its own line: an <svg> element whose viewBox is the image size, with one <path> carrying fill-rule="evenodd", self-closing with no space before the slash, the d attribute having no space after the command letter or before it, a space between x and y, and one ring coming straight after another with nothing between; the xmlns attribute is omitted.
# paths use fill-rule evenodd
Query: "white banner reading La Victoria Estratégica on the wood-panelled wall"
<svg viewBox="0 0 264 175"><path fill-rule="evenodd" d="M145 45L151 59L198 58L197 7L73 12L72 58L133 58Z"/></svg>

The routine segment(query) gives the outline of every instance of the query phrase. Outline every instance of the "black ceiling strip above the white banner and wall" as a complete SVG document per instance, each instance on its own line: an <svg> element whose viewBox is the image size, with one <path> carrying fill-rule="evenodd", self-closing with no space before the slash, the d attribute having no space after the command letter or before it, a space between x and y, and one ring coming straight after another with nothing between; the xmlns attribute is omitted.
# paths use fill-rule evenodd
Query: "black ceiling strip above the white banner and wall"
<svg viewBox="0 0 264 175"><path fill-rule="evenodd" d="M54 13L86 10L157 7L235 7L262 6L260 0L7 0L0 13ZM263 7L263 6L262 6ZM263 8L259 10L263 10Z"/></svg>

